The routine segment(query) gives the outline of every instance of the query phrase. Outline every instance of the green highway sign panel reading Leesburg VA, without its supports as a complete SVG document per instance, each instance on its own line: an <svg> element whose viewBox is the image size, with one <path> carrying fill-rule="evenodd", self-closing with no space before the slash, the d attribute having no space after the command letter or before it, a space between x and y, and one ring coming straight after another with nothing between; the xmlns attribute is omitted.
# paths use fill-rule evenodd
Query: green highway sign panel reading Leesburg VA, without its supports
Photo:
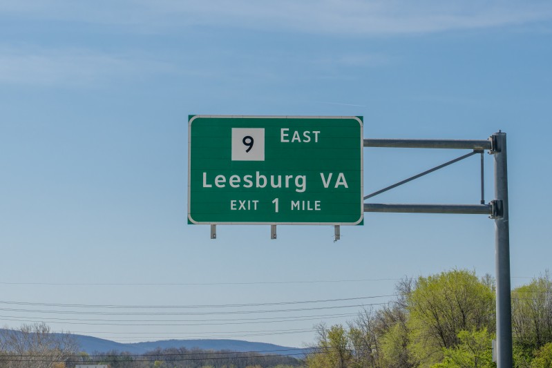
<svg viewBox="0 0 552 368"><path fill-rule="evenodd" d="M190 115L190 224L363 224L362 117Z"/></svg>

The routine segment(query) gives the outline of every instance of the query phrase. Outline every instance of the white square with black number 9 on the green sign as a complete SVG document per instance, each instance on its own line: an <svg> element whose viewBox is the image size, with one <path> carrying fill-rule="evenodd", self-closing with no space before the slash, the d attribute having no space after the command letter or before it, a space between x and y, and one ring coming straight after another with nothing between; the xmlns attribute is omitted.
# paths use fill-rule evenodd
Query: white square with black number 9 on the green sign
<svg viewBox="0 0 552 368"><path fill-rule="evenodd" d="M265 128L232 128L232 161L265 161Z"/></svg>

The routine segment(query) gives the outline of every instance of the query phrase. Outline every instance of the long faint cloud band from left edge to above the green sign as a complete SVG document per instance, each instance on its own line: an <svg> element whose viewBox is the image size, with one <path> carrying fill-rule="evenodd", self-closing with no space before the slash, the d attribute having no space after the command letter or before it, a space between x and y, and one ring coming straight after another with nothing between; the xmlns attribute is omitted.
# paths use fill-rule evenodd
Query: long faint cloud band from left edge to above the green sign
<svg viewBox="0 0 552 368"><path fill-rule="evenodd" d="M305 78L343 78L359 68L392 62L383 54L342 52L308 55L296 52L238 52L216 49L195 57L144 55L127 50L109 53L93 48L44 48L0 44L0 85L97 88L149 76L171 75L191 81L262 80L279 83ZM226 60L219 63L218 60Z"/></svg>

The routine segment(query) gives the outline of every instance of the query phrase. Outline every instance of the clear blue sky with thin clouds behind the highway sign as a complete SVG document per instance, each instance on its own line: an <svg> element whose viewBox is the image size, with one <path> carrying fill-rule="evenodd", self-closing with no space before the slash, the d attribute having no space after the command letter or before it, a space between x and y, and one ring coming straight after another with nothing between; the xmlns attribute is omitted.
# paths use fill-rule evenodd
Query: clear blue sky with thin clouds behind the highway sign
<svg viewBox="0 0 552 368"><path fill-rule="evenodd" d="M278 240L269 226L219 226L210 240L187 224L189 114L363 115L375 138L502 129L512 282L529 282L552 259L551 20L549 1L2 1L1 300L64 305L0 304L0 325L301 347L314 324L352 320L405 275L494 274L493 222L478 215L368 213L336 243L330 226L280 226ZM465 153L364 151L365 193ZM372 200L477 204L479 158ZM347 298L365 299L220 307ZM94 305L207 314L100 317L114 309ZM193 318L209 321L144 326Z"/></svg>

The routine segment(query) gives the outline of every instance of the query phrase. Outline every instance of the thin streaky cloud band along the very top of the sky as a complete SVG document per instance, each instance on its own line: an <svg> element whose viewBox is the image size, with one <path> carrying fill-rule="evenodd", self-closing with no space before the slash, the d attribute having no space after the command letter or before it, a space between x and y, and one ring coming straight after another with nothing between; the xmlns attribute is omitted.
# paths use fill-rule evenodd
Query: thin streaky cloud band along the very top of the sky
<svg viewBox="0 0 552 368"><path fill-rule="evenodd" d="M0 14L133 26L203 24L332 34L403 34L552 19L549 0L4 0Z"/></svg>

